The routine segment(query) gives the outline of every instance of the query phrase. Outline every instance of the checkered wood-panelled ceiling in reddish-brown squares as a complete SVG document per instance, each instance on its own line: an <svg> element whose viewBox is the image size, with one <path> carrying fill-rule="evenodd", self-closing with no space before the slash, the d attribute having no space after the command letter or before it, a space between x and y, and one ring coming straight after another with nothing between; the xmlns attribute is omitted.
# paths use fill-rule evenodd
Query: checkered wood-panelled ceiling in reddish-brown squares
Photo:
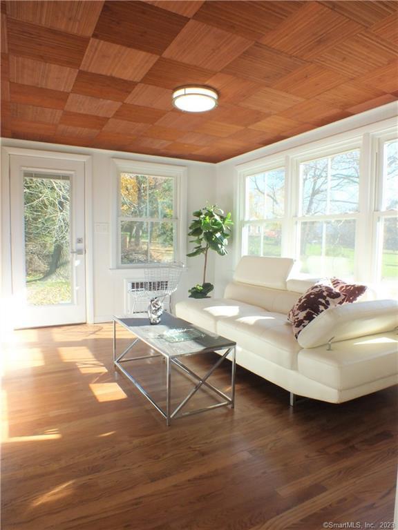
<svg viewBox="0 0 398 530"><path fill-rule="evenodd" d="M397 1L3 1L3 137L218 162L398 99ZM216 110L173 109L213 86Z"/></svg>

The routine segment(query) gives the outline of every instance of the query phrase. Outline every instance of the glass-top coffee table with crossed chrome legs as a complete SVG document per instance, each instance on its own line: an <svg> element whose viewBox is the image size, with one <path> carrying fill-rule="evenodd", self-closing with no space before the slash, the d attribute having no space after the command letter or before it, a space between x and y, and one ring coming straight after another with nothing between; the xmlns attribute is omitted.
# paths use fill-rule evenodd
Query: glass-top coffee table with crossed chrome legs
<svg viewBox="0 0 398 530"><path fill-rule="evenodd" d="M116 324L120 324L127 330L131 331L135 335L133 342L121 353L116 355ZM137 342L142 341L148 346L151 346L153 350L158 352L157 355L140 355L139 357L126 357L126 354L133 349L133 346ZM211 351L221 351L220 358L211 366L211 369L207 371L203 377L189 369L182 362L182 358L187 355L198 355L200 353L208 353ZM227 395L224 392L217 389L216 386L210 384L208 379L210 375L216 370L218 366L231 354L231 395ZM129 361L139 361L144 359L153 359L154 357L164 357L167 371L166 379L166 410L164 411L148 392L135 380L135 377L127 371L123 363ZM218 409L220 406L230 406L234 408L235 402L235 375L236 375L236 342L220 337L215 333L209 333L208 331L202 330L185 320L173 317L169 313L162 315L162 321L160 324L152 326L149 324L148 318L145 317L133 317L133 318L118 318L113 317L113 364L119 369L137 388L138 390L148 399L155 409L166 419L166 423L169 426L171 420L181 418L182 416L188 416L191 414L197 414L200 412L208 411L210 409ZM196 382L193 389L188 393L186 397L171 410L171 366L176 366L179 370L189 375L194 382ZM195 411L182 412L182 407L191 399L191 397L200 389L201 386L206 388L222 397L222 402L214 405L207 406L203 409Z"/></svg>

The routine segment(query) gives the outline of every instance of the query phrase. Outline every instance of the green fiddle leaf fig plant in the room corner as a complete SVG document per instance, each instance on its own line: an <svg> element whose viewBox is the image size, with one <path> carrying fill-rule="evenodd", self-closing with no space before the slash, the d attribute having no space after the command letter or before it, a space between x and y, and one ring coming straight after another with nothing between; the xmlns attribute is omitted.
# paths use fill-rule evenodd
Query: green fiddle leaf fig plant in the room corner
<svg viewBox="0 0 398 530"><path fill-rule="evenodd" d="M218 206L205 206L201 210L193 212L193 221L189 225L188 235L193 237L190 243L195 246L193 251L187 254L188 257L205 255L203 266L203 282L189 289L190 298L209 298L209 293L213 291L214 285L206 282L207 255L209 251L215 251L220 256L227 254L228 237L231 235L231 228L234 225L231 213L224 215Z"/></svg>

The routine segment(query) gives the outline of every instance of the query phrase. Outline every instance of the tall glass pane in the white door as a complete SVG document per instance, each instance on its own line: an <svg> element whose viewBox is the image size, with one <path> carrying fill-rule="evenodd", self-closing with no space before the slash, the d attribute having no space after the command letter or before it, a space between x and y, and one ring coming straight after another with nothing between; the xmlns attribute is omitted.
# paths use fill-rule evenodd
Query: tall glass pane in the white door
<svg viewBox="0 0 398 530"><path fill-rule="evenodd" d="M70 177L23 174L28 304L72 302Z"/></svg>

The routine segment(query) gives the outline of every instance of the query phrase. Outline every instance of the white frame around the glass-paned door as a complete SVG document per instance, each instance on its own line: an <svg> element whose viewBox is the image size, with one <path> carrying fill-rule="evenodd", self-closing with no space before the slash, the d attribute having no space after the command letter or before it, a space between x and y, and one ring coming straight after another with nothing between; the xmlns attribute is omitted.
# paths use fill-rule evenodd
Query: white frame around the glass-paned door
<svg viewBox="0 0 398 530"><path fill-rule="evenodd" d="M1 311L7 311L12 303L12 257L11 257L11 208L10 208L10 156L20 155L48 159L81 161L84 163L84 231L86 242L86 323L94 322L94 278L93 278L93 162L91 155L62 153L61 151L37 150L19 147L1 148L1 201L0 201L0 294L3 300ZM11 322L12 327L14 322Z"/></svg>

